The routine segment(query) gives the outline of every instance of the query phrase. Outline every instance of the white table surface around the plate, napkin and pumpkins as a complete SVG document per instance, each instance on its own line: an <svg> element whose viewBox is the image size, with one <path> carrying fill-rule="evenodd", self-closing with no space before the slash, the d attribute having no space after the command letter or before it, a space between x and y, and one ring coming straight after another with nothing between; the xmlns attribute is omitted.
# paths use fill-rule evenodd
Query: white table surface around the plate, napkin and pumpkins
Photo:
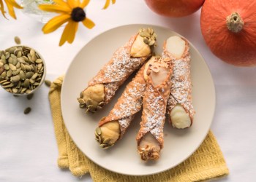
<svg viewBox="0 0 256 182"><path fill-rule="evenodd" d="M237 68L216 58L200 33L200 11L182 18L154 14L144 1L117 0L107 10L105 1L91 1L87 15L96 26L79 26L73 44L59 47L63 27L44 35L42 23L16 10L18 20L0 16L0 50L22 44L41 52L47 64L47 79L67 71L72 58L94 36L118 25L146 23L161 25L187 37L206 60L217 91L217 106L211 130L225 156L230 175L217 181L256 181L256 68ZM256 52L255 52L256 54ZM76 178L60 170L58 150L48 103L48 87L42 87L32 100L14 98L0 90L0 181L91 181L90 175ZM31 106L29 115L23 109Z"/></svg>

